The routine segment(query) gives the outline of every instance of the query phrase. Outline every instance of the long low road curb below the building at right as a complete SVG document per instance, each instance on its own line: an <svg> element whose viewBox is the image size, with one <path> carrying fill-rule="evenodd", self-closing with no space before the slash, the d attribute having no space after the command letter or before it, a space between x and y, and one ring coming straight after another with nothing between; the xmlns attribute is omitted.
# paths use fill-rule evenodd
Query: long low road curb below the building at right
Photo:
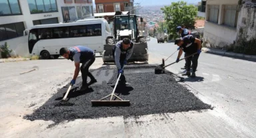
<svg viewBox="0 0 256 138"><path fill-rule="evenodd" d="M256 59L256 56L253 55L247 55L247 54L240 54L240 53L235 53L235 52L225 52L224 50L214 50L214 49L210 49L210 48L202 48L203 52L207 52L207 53L213 53L213 54L225 54L225 55L229 55L229 56L239 56L242 58L253 58Z"/></svg>

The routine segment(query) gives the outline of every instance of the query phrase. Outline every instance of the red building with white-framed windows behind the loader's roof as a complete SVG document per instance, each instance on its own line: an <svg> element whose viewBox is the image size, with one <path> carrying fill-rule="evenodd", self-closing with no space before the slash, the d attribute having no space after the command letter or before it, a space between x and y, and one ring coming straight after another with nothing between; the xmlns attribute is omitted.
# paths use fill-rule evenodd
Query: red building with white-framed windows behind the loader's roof
<svg viewBox="0 0 256 138"><path fill-rule="evenodd" d="M97 13L111 13L115 11L133 11L133 0L95 0Z"/></svg>

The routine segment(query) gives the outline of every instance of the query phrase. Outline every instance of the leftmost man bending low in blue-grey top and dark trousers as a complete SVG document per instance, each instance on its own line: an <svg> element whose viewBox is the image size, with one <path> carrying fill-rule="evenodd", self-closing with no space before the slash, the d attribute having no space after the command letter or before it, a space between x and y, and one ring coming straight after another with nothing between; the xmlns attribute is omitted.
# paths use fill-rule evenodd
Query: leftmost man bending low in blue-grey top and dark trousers
<svg viewBox="0 0 256 138"><path fill-rule="evenodd" d="M75 80L77 79L80 70L83 80L83 85L80 89L81 91L88 90L87 76L91 78L89 84L97 82L97 80L93 77L93 74L89 72L89 67L95 61L95 53L93 50L85 46L73 46L71 48L61 48L61 50L59 50L59 54L64 58L75 62L75 73L73 79L70 82L72 85L75 84ZM82 65L79 68L80 63Z"/></svg>

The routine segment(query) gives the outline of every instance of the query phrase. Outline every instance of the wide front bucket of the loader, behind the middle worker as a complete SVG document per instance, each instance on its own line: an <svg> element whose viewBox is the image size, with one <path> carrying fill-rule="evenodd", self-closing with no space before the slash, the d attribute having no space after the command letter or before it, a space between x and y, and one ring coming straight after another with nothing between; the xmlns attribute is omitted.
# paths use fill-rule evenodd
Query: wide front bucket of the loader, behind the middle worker
<svg viewBox="0 0 256 138"><path fill-rule="evenodd" d="M112 56L112 49L114 44L104 45L104 51L103 51L103 62L114 62L114 58ZM145 43L134 43L133 48L133 55L128 60L128 62L146 62L149 60L149 54L147 52L147 42Z"/></svg>

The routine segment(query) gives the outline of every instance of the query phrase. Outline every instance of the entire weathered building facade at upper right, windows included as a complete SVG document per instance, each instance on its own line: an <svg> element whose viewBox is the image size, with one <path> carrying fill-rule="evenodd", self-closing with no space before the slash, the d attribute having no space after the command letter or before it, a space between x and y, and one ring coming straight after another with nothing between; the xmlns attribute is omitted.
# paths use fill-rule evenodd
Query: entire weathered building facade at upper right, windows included
<svg viewBox="0 0 256 138"><path fill-rule="evenodd" d="M204 38L207 46L224 48L256 38L255 0L207 0Z"/></svg>

